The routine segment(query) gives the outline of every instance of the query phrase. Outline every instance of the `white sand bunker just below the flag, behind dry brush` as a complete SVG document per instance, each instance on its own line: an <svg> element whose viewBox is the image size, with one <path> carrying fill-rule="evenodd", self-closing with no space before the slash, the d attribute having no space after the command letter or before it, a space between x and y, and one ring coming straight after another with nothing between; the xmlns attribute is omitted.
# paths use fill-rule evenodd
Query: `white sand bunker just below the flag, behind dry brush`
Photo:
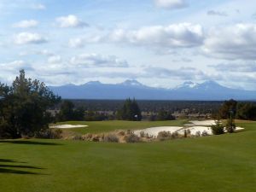
<svg viewBox="0 0 256 192"><path fill-rule="evenodd" d="M137 136L140 136L140 132L143 131L145 134L148 133L150 137L157 137L160 131L175 132L175 131L180 131L182 129L183 129L182 126L159 126L159 127L150 127L144 130L137 130L137 131L134 131L134 134L136 134Z"/></svg>

